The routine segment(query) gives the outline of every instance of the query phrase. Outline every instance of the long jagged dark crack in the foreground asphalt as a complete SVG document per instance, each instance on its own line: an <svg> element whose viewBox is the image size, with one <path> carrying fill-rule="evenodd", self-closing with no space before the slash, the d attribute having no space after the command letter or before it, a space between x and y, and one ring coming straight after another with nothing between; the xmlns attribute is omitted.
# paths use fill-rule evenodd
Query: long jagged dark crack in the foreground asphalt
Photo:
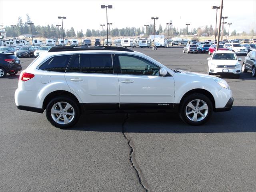
<svg viewBox="0 0 256 192"><path fill-rule="evenodd" d="M144 188L144 190L146 192L150 192L150 187L148 185L148 182L145 180L142 171L140 170L135 158L134 158L134 148L133 148L133 144L132 141L130 140L130 138L124 133L125 132L125 128L124 128L124 124L127 122L128 118L129 118L129 114L126 114L126 118L124 119L124 122L122 123L122 134L124 135L124 138L128 141L127 144L130 147L130 162L132 164L132 167L134 168L134 170L137 173L137 177L139 179L140 185Z"/></svg>

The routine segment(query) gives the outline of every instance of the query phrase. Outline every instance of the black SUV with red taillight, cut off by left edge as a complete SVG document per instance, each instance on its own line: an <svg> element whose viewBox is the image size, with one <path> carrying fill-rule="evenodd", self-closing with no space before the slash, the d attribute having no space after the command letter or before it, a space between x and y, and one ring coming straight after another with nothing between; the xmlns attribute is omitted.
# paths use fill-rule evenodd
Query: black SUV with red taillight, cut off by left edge
<svg viewBox="0 0 256 192"><path fill-rule="evenodd" d="M0 53L0 78L10 75L16 75L22 70L20 59L12 53Z"/></svg>

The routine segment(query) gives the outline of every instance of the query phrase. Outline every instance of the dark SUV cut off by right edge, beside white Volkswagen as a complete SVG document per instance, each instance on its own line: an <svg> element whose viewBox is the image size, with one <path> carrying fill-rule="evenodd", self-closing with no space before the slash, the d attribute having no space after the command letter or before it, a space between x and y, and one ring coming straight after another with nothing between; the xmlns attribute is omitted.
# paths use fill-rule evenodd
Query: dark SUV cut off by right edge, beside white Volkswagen
<svg viewBox="0 0 256 192"><path fill-rule="evenodd" d="M256 51L250 51L244 58L242 72L252 71L252 76L256 77Z"/></svg>

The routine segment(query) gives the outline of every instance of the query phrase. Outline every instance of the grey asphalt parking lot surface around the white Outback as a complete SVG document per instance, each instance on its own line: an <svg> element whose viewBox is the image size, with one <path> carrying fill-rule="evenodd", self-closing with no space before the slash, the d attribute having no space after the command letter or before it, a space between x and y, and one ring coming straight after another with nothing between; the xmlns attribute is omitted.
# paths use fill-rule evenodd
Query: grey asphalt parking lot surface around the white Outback
<svg viewBox="0 0 256 192"><path fill-rule="evenodd" d="M206 73L208 54L134 48L173 69ZM244 56L238 56L244 58ZM21 58L25 69L34 58ZM242 63L242 62L241 62ZM60 130L18 110L16 76L0 79L0 191L256 191L256 78L224 78L231 111L203 126L178 115L90 114Z"/></svg>

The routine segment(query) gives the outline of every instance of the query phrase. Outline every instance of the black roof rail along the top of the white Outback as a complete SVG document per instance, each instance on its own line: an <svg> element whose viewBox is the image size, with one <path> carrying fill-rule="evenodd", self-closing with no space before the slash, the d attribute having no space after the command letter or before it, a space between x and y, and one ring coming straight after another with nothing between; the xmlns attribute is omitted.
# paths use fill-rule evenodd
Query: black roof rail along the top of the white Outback
<svg viewBox="0 0 256 192"><path fill-rule="evenodd" d="M56 46L50 48L48 52L61 52L61 51L84 51L84 50L111 50L111 51L128 51L134 52L131 49L116 46Z"/></svg>

